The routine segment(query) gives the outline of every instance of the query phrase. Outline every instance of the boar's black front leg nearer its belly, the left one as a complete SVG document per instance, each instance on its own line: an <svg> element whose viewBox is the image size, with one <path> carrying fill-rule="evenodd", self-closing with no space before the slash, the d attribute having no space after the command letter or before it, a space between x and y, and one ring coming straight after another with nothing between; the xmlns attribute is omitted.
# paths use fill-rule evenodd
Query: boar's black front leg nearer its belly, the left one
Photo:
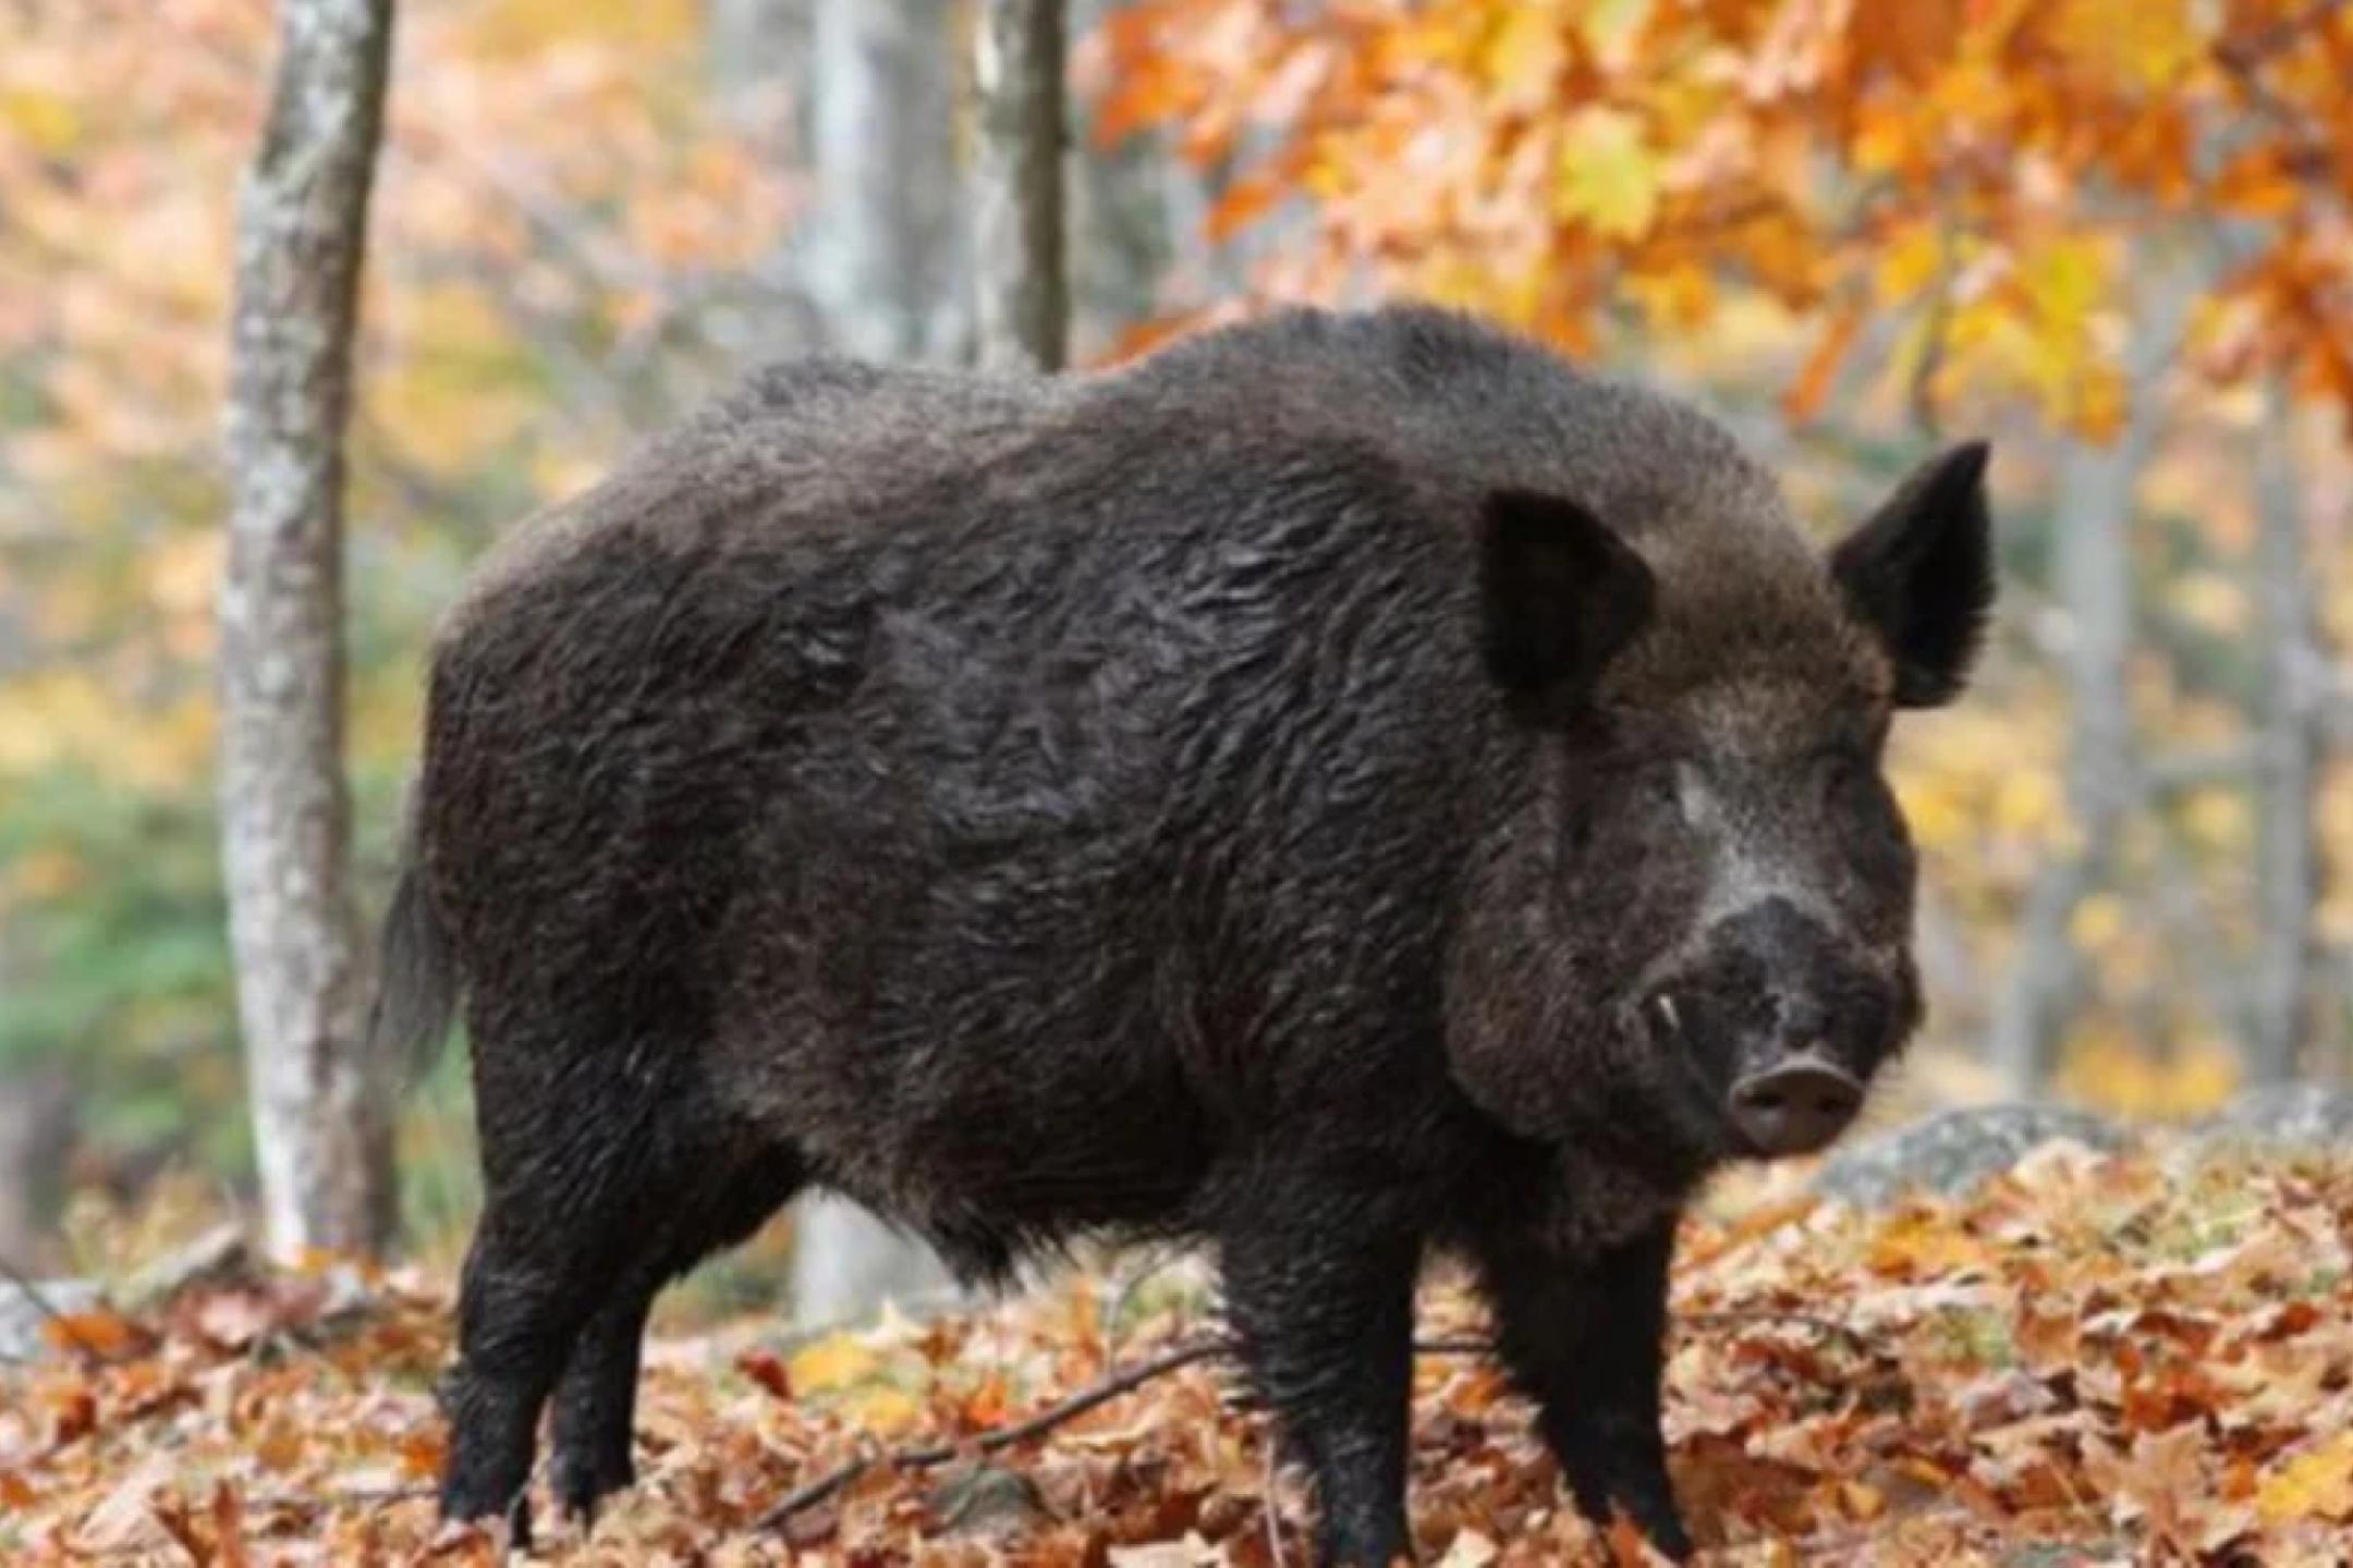
<svg viewBox="0 0 2353 1568"><path fill-rule="evenodd" d="M1249 1380L1315 1481L1318 1556L1412 1559L1405 1453L1419 1237L1306 1201L1268 1204L1221 1246Z"/></svg>

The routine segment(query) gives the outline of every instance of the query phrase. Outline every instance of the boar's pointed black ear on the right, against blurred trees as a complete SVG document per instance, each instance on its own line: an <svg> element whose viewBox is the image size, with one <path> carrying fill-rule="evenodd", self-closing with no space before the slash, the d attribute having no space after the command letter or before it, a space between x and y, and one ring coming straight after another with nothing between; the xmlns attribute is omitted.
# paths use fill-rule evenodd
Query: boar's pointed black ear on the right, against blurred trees
<svg viewBox="0 0 2353 1568"><path fill-rule="evenodd" d="M1986 444L1922 463L1835 550L1831 576L1897 665L1897 708L1960 696L1993 614Z"/></svg>

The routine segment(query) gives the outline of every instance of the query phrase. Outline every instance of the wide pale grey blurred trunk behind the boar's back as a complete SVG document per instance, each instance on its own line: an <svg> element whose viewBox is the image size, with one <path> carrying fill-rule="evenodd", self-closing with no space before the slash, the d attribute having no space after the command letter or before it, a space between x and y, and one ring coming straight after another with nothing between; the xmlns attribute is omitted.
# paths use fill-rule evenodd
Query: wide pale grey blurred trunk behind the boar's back
<svg viewBox="0 0 2353 1568"><path fill-rule="evenodd" d="M816 0L802 277L826 341L868 360L953 360L955 49L948 0Z"/></svg>

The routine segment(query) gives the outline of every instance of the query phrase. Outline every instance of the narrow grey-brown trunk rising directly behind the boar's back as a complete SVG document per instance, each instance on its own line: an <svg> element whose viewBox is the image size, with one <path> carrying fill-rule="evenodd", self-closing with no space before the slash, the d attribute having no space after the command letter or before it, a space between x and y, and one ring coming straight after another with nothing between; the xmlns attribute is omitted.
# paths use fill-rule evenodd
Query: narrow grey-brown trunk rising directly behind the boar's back
<svg viewBox="0 0 2353 1568"><path fill-rule="evenodd" d="M974 331L981 369L1056 371L1071 336L1061 0L988 5L976 66Z"/></svg>

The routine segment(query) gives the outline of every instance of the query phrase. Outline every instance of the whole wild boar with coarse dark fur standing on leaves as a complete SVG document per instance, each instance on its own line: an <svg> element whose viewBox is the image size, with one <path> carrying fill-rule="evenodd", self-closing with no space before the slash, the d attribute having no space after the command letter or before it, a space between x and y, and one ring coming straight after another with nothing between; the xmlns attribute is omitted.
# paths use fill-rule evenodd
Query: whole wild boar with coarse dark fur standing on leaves
<svg viewBox="0 0 2353 1568"><path fill-rule="evenodd" d="M1701 414L1466 317L1052 381L767 369L435 646L386 1037L464 990L487 1206L445 1507L631 1479L647 1305L802 1185L967 1276L1217 1244L1332 1561L1405 1554L1466 1255L1588 1512L1687 1549L1675 1218L1793 1051L1918 1020L1894 705L1991 604L1984 449L1826 562ZM1746 1081L1746 1079L1744 1079Z"/></svg>

